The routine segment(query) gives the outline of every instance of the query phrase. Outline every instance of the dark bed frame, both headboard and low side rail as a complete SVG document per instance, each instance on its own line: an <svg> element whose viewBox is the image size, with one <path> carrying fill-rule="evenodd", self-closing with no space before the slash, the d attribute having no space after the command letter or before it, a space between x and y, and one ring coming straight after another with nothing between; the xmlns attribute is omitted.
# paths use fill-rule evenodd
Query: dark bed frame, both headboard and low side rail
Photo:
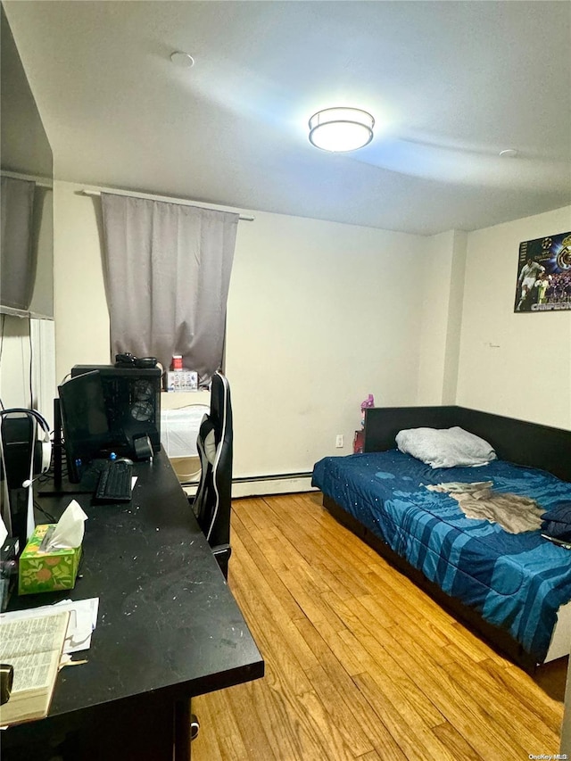
<svg viewBox="0 0 571 761"><path fill-rule="evenodd" d="M460 426L481 436L492 444L500 459L519 465L539 467L564 481L571 481L571 431L524 420L504 418L489 412L464 407L375 407L365 412L364 451L394 449L394 437L403 428L449 428ZM388 560L393 567L408 576L426 591L443 608L459 621L476 631L495 649L501 651L525 668L535 669L534 659L510 636L497 626L484 620L473 608L450 597L437 584L429 581L421 571L397 555L389 546L372 534L368 528L345 512L335 500L323 495L323 505L339 521L364 542Z"/></svg>

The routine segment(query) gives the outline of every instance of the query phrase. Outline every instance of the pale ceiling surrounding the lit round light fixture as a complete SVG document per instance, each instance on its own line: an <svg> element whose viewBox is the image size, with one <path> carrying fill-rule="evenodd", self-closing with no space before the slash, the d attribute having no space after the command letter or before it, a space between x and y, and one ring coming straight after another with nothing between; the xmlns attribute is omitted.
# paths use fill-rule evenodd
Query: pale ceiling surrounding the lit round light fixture
<svg viewBox="0 0 571 761"><path fill-rule="evenodd" d="M571 3L4 7L56 178L425 235L571 203ZM372 143L310 145L335 105Z"/></svg>

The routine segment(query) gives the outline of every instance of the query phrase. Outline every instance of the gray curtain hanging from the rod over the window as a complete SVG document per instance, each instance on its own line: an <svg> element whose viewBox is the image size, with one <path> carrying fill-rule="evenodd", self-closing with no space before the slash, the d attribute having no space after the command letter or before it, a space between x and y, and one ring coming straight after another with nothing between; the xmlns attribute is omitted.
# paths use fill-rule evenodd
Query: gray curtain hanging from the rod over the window
<svg viewBox="0 0 571 761"><path fill-rule="evenodd" d="M238 214L103 193L112 357L173 354L201 385L220 368Z"/></svg>

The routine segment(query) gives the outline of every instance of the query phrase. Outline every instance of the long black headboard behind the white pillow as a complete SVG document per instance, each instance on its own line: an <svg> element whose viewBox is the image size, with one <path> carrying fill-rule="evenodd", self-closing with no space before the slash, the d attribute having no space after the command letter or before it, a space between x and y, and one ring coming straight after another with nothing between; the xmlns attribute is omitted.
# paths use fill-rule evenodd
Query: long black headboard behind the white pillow
<svg viewBox="0 0 571 761"><path fill-rule="evenodd" d="M402 428L460 426L492 444L500 459L548 470L571 481L571 431L465 407L373 407L365 410L364 451L394 449Z"/></svg>

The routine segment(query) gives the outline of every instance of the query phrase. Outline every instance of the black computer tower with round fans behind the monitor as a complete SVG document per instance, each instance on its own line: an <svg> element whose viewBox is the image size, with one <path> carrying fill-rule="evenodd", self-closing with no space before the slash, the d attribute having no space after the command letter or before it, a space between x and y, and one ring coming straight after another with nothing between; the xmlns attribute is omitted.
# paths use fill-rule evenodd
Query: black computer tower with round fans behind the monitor
<svg viewBox="0 0 571 761"><path fill-rule="evenodd" d="M112 365L75 365L71 377L98 370L113 438L134 450L134 440L148 435L153 451L161 449L161 369Z"/></svg>

